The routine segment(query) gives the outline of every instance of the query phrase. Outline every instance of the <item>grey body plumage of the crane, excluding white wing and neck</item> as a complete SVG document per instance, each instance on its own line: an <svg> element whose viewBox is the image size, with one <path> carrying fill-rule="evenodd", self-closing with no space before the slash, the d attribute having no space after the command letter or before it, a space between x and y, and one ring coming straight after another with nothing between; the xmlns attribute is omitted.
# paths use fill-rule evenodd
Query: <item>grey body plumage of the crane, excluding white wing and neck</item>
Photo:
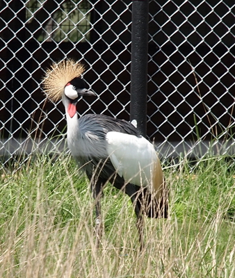
<svg viewBox="0 0 235 278"><path fill-rule="evenodd" d="M67 139L72 156L88 176L94 170L100 172L99 177L109 181L115 173L115 168L106 151L106 134L117 131L139 136L133 124L106 115L88 114L78 119L78 129ZM102 171L100 169L102 168ZM116 177L115 182L124 184L124 179ZM115 183L114 183L115 185ZM120 188L121 184L118 186Z"/></svg>

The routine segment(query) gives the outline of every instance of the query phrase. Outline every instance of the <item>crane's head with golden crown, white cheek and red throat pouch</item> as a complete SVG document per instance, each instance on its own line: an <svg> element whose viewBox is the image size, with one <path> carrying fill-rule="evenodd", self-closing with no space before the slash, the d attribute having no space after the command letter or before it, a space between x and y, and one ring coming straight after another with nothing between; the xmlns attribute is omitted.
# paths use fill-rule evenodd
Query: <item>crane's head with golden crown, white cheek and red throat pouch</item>
<svg viewBox="0 0 235 278"><path fill-rule="evenodd" d="M75 60L67 59L53 63L42 79L42 87L51 101L63 100L70 117L76 113L76 103L83 96L95 96L81 79L85 67Z"/></svg>

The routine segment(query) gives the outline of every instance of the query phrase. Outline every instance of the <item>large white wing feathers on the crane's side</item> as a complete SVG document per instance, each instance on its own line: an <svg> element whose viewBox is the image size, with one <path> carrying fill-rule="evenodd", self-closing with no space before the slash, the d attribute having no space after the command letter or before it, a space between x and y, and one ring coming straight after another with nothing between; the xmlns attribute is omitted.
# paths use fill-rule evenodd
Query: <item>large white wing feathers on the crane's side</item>
<svg viewBox="0 0 235 278"><path fill-rule="evenodd" d="M124 181L159 191L163 173L154 146L142 136L111 131L106 134L107 152Z"/></svg>

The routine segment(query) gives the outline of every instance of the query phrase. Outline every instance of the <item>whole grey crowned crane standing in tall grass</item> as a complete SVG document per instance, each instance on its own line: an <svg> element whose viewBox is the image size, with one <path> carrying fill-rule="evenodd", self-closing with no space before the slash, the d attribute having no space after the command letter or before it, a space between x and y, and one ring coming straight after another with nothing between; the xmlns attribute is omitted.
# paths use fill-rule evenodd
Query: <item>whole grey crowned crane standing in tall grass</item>
<svg viewBox="0 0 235 278"><path fill-rule="evenodd" d="M67 144L76 163L86 172L96 200L97 237L102 234L100 196L110 182L126 193L137 217L140 247L143 246L143 216L168 217L168 191L154 146L140 136L136 126L106 115L78 117L81 97L95 95L86 89L84 67L74 60L54 63L42 85L51 101L62 99L67 119Z"/></svg>

